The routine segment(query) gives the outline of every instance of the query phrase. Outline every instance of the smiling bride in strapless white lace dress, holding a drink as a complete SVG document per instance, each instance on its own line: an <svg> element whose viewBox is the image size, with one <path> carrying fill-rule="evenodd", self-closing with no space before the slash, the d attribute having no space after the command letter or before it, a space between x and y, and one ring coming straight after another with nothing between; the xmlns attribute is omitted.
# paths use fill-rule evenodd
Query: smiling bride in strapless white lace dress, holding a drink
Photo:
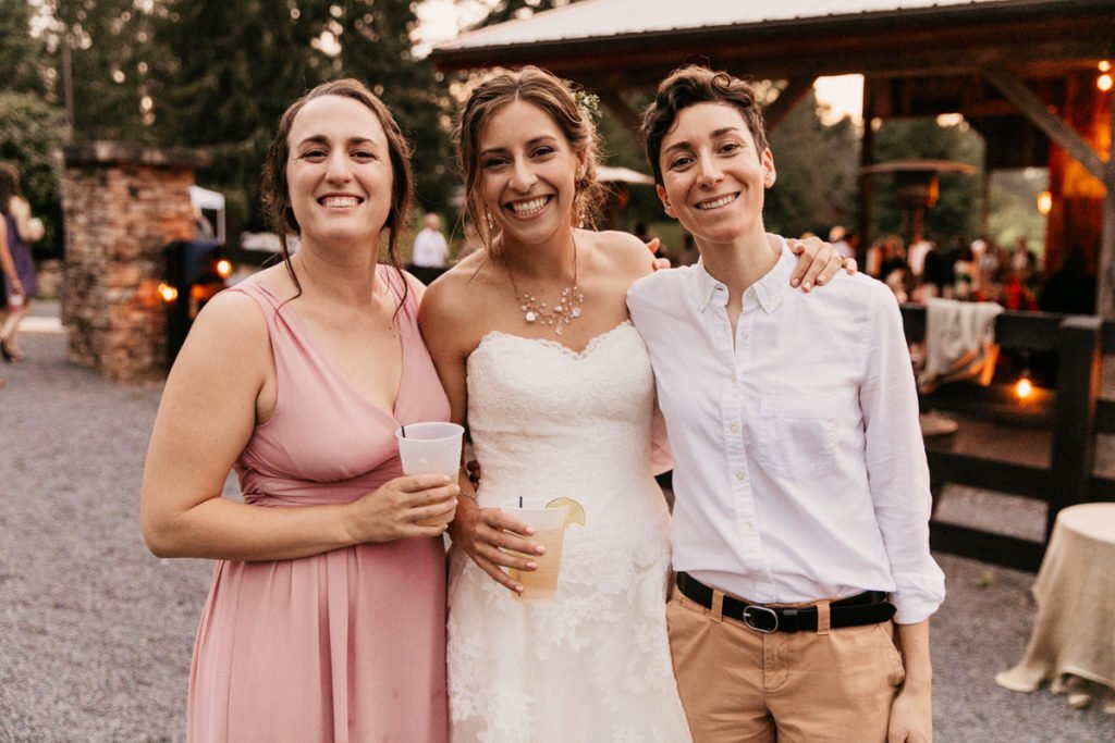
<svg viewBox="0 0 1115 743"><path fill-rule="evenodd" d="M689 741L666 632L653 378L626 306L628 287L651 270L647 246L574 227L600 189L597 137L549 72L478 86L459 147L486 250L429 287L420 319L483 468L449 530L450 737ZM811 278L818 245L799 265ZM472 491L464 477L462 487ZM517 599L522 587L505 571L529 563L507 550L536 554L525 525L498 509L520 496L584 508L584 526L565 531L550 600Z"/></svg>

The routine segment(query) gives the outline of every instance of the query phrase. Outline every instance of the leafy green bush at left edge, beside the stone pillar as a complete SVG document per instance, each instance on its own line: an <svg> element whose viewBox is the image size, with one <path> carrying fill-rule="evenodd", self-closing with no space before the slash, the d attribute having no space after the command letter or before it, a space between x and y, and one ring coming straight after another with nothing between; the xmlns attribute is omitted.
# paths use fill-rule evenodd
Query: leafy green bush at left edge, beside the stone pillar
<svg viewBox="0 0 1115 743"><path fill-rule="evenodd" d="M37 244L43 248L52 244L56 229L49 218L58 193L55 153L65 140L66 121L60 110L31 94L0 92L0 160L19 168L31 213L42 217L48 229L47 237Z"/></svg>

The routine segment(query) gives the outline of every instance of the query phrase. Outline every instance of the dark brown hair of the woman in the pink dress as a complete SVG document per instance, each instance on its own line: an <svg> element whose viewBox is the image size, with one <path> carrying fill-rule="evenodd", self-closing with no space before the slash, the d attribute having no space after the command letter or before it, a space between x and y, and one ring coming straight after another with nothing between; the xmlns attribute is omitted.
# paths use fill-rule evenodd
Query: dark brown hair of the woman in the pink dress
<svg viewBox="0 0 1115 743"><path fill-rule="evenodd" d="M279 235L279 243L282 248L282 260L294 281L299 294L302 293L302 285L294 275L294 267L290 263L290 250L287 245L287 235L301 235L302 228L294 218L294 209L290 205L290 184L287 183L287 162L290 159L290 145L287 139L290 130L294 126L294 118L302 107L314 98L323 96L340 96L350 98L368 108L384 127L387 135L387 149L391 159L391 208L387 214L387 260L399 272L403 281L403 302L406 301L408 282L403 276L403 267L399 262L399 234L410 224L410 207L414 202L414 174L410 169L410 144L404 136L403 130L391 116L390 109L371 92L367 86L359 80L345 78L332 82L322 82L308 94L295 100L283 111L279 118L279 130L268 149L266 159L263 163L263 208L266 211L272 229ZM378 258L378 256L377 256Z"/></svg>

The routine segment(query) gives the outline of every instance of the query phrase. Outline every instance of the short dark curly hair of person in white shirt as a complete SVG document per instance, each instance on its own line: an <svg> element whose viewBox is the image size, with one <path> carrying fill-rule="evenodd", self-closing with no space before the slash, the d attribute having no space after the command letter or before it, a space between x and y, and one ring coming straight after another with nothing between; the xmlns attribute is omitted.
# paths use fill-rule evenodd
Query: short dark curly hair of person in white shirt
<svg viewBox="0 0 1115 743"><path fill-rule="evenodd" d="M687 65L673 70L658 85L655 102L642 115L642 136L647 145L647 159L655 172L655 183L662 184L662 167L658 162L662 139L673 128L678 114L697 104L735 106L747 123L758 156L762 157L768 147L763 128L763 111L755 99L755 89L723 70L714 71L707 67Z"/></svg>

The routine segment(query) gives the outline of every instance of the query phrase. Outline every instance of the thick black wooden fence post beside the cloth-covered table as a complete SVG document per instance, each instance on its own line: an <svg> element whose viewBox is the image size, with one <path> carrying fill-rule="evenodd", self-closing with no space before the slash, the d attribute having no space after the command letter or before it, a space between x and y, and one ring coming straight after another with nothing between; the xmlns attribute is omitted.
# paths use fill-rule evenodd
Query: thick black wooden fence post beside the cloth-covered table
<svg viewBox="0 0 1115 743"><path fill-rule="evenodd" d="M1087 500L1095 467L1096 403L1099 400L1099 330L1103 320L1074 315L1060 324L1057 343L1057 400L1054 409L1050 493L1046 544L1060 509Z"/></svg>

